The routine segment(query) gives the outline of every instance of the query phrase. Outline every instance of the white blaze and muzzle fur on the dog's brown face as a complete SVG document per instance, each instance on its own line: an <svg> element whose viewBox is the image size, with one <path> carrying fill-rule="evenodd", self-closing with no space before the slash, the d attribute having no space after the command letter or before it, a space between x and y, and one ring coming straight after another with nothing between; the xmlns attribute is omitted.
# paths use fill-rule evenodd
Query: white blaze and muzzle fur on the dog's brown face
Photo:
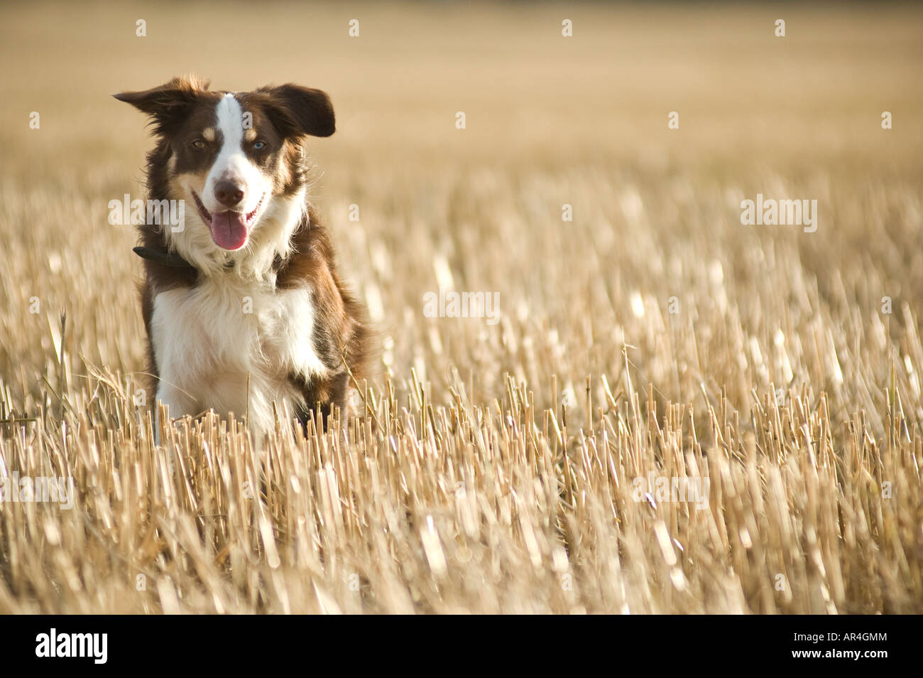
<svg viewBox="0 0 923 678"><path fill-rule="evenodd" d="M218 129L222 133L222 150L211 165L202 192L202 204L209 212L227 210L226 205L215 199L215 185L222 180L234 182L244 191L240 204L234 205L234 212L249 213L257 209L260 198L272 188L269 177L246 156L244 151L244 111L234 94L225 94L215 108Z"/></svg>

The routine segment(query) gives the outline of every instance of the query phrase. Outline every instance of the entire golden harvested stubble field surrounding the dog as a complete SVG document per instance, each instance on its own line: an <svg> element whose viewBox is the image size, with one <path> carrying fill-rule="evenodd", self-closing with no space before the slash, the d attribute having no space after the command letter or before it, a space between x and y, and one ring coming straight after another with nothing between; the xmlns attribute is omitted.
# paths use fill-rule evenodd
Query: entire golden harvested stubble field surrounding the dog
<svg viewBox="0 0 923 678"><path fill-rule="evenodd" d="M76 501L0 504L0 612L923 612L921 35L915 6L3 6L0 476ZM312 200L383 347L345 430L156 445L133 402L107 205L150 138L110 95L186 72L330 93ZM817 230L742 225L757 194ZM440 288L499 321L427 317Z"/></svg>

